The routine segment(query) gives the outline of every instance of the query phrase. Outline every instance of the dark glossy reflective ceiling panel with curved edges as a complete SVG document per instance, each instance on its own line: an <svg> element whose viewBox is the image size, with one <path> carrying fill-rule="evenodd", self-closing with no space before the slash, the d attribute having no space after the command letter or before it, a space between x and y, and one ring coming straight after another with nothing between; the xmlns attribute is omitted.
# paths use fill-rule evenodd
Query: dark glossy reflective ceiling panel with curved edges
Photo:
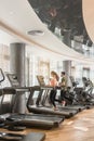
<svg viewBox="0 0 94 141"><path fill-rule="evenodd" d="M69 33L69 40L92 46L82 16L82 0L28 0L40 20L55 34ZM59 36L57 36L59 38ZM65 42L67 44L67 42ZM68 44L67 44L68 46ZM70 46L70 44L69 44Z"/></svg>

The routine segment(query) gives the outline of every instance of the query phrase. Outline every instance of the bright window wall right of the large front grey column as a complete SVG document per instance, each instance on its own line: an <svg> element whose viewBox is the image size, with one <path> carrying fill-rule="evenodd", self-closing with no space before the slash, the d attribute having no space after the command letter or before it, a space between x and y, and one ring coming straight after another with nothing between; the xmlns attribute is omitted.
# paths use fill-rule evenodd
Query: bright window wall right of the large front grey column
<svg viewBox="0 0 94 141"><path fill-rule="evenodd" d="M35 54L28 55L27 61L27 81L29 86L38 85L37 75L42 75L45 78L45 84L49 84L50 72L55 70L59 76L64 70L63 61L44 60L43 57L36 56ZM78 62L71 62L71 76L79 82L79 87L82 84L82 77L90 78L94 81L94 67L86 66Z"/></svg>

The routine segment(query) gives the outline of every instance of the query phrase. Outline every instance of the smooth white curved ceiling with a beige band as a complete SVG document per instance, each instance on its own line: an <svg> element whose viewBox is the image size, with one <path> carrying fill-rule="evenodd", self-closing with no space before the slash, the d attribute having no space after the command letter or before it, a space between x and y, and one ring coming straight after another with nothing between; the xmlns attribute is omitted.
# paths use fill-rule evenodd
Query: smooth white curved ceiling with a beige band
<svg viewBox="0 0 94 141"><path fill-rule="evenodd" d="M94 62L93 59L85 57L58 40L40 21L27 0L0 0L0 29L15 37L16 40L13 39L13 42L22 41L29 47L33 46L51 57L54 55L58 60L75 60L86 64ZM44 35L28 35L29 30L42 30Z"/></svg>

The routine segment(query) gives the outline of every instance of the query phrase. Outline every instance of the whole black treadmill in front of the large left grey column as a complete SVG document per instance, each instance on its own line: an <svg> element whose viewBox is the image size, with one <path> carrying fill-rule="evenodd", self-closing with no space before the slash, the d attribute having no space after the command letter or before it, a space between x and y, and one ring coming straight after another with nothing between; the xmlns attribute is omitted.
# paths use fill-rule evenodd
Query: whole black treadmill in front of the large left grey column
<svg viewBox="0 0 94 141"><path fill-rule="evenodd" d="M0 115L0 118L5 119L6 124L13 124L13 125L24 125L24 126L29 126L29 127L37 127L37 128L44 128L44 129L49 129L49 128L53 128L53 127L58 127L59 124L62 121L64 121L64 116L52 116L52 115L39 115L39 114L16 114L13 113L14 112L14 107L15 107L15 101L17 95L19 94L18 92L28 92L29 90L31 90L31 87L17 87L18 81L16 79L15 74L8 74L10 77L10 80L12 80L14 82L14 88L13 87L8 87L8 88L3 88L1 89L0 93L1 97L3 95L3 98L1 99L1 104L0 104L0 110L3 110L3 105L4 108L8 107L8 104L10 105L9 107L11 107L10 110L10 114L5 114L5 113L1 113L2 115ZM12 82L11 81L11 82ZM16 82L17 81L17 82ZM16 85L17 84L17 85ZM11 94L12 95L12 100L9 101L6 103L6 101L4 102L4 97ZM5 106L6 103L6 106Z"/></svg>

